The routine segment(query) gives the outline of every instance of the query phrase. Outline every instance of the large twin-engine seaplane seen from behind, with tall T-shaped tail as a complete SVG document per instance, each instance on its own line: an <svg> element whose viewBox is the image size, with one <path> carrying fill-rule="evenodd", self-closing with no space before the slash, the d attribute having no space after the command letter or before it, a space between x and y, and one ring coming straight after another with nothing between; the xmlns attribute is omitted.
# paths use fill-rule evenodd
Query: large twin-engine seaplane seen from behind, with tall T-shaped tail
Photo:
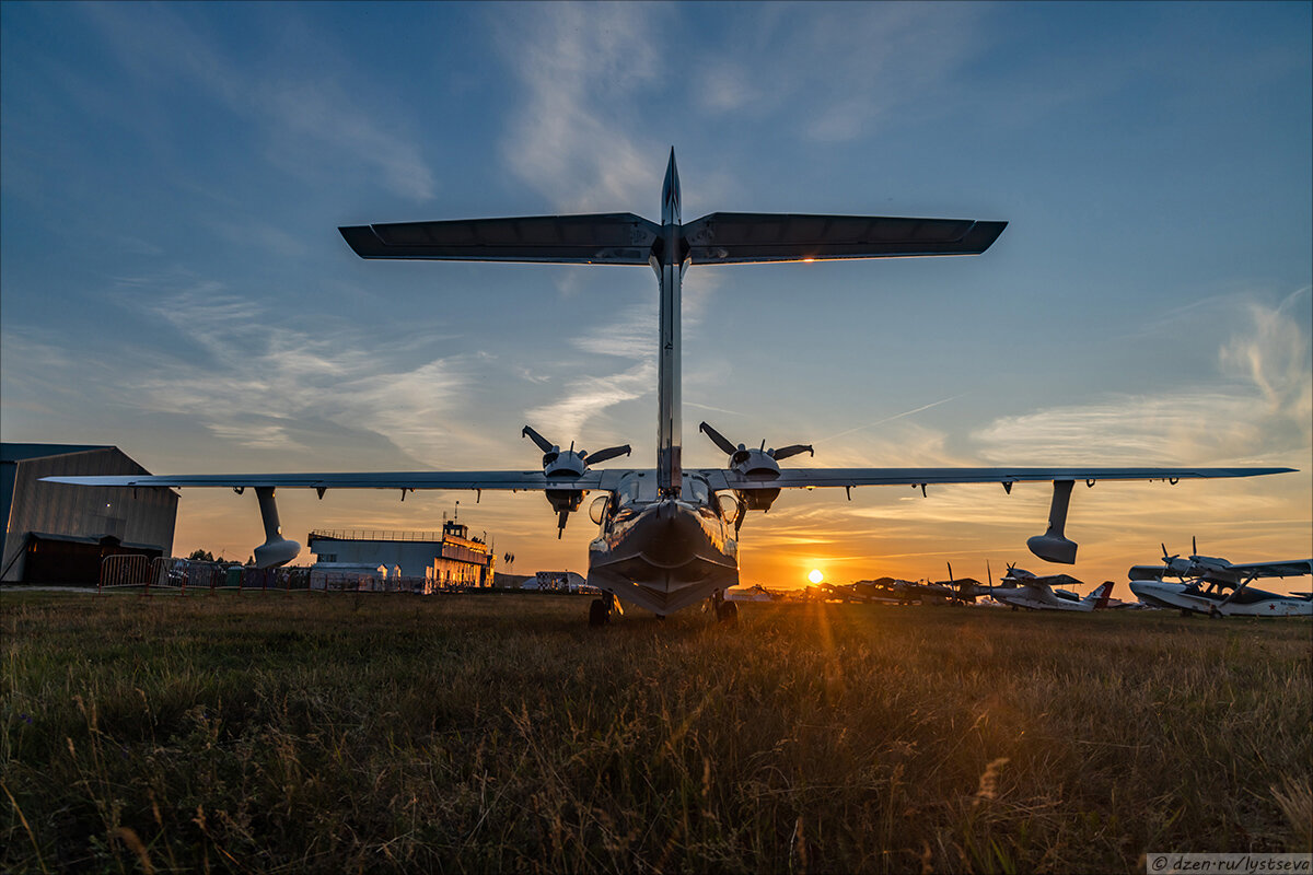
<svg viewBox="0 0 1313 875"><path fill-rule="evenodd" d="M588 544L587 581L603 596L592 602L591 624L620 613L621 601L660 617L710 600L717 615L737 615L725 590L738 582L739 530L748 512L769 510L783 489L998 483L1011 492L1020 481L1052 481L1048 530L1031 538L1031 551L1048 561L1071 564L1077 544L1065 537L1067 506L1078 481L1246 478L1292 468L792 468L781 463L814 451L794 443L768 449L727 439L700 428L727 457L723 468L685 470L681 462L680 379L681 282L691 266L840 258L981 254L1007 226L999 220L920 219L863 215L712 213L684 222L675 150L660 193L660 222L632 213L456 219L358 224L339 228L361 258L424 261L511 261L647 266L658 287L656 453L654 468L600 468L630 447L588 453L561 449L525 426L523 436L542 453L538 470L402 471L362 474L242 474L181 476L70 476L55 483L95 487L230 487L253 489L265 542L260 567L294 559L301 547L282 537L274 492L280 488L537 491L557 514L558 533L588 495L588 514L599 526Z"/></svg>

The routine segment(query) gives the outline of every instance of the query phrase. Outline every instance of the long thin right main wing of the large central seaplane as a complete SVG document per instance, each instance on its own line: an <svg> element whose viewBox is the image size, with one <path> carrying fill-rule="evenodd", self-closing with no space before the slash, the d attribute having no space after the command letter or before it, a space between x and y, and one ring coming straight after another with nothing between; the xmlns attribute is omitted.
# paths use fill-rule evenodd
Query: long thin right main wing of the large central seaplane
<svg viewBox="0 0 1313 875"><path fill-rule="evenodd" d="M700 471L716 489L780 489L814 487L931 485L1043 480L1197 480L1289 474L1295 468L785 468L779 475L748 476L714 468Z"/></svg>

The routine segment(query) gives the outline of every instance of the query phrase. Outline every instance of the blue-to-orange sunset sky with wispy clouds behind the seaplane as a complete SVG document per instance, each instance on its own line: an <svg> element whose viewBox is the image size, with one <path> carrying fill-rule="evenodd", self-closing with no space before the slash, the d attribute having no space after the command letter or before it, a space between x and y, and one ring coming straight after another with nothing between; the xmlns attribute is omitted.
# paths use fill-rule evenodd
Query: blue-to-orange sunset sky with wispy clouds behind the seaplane
<svg viewBox="0 0 1313 875"><path fill-rule="evenodd" d="M1287 466L1073 497L785 493L744 584L1086 589L1170 552L1313 554L1313 5L0 4L0 438L154 474L655 462L647 268L366 262L344 224L714 211L1006 219L985 254L697 266L684 464ZM626 464L625 460L608 467ZM184 489L176 555L255 497ZM456 502L460 502L457 506ZM435 530L584 571L537 495L282 491L284 530ZM310 561L302 554L298 561ZM1299 589L1296 581L1291 581ZM1304 580L1304 589L1308 581ZM1276 585L1272 589L1291 589ZM1130 598L1121 585L1115 596Z"/></svg>

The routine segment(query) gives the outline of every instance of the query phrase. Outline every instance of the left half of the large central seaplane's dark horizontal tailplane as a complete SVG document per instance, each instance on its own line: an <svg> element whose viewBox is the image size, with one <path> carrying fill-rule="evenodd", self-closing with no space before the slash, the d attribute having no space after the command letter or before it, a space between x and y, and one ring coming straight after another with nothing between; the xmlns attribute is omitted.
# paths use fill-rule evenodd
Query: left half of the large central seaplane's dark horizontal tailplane
<svg viewBox="0 0 1313 875"><path fill-rule="evenodd" d="M633 213L339 228L361 258L647 264L660 228Z"/></svg>

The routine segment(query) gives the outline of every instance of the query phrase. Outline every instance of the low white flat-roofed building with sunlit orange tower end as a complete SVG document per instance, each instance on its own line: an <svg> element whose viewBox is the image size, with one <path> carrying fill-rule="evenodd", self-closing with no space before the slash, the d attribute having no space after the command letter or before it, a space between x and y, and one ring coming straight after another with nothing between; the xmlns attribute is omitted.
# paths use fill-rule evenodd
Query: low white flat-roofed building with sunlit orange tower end
<svg viewBox="0 0 1313 875"><path fill-rule="evenodd" d="M311 531L316 563L386 565L393 576L423 577L435 586L491 586L496 556L469 526L454 519L442 531Z"/></svg>

